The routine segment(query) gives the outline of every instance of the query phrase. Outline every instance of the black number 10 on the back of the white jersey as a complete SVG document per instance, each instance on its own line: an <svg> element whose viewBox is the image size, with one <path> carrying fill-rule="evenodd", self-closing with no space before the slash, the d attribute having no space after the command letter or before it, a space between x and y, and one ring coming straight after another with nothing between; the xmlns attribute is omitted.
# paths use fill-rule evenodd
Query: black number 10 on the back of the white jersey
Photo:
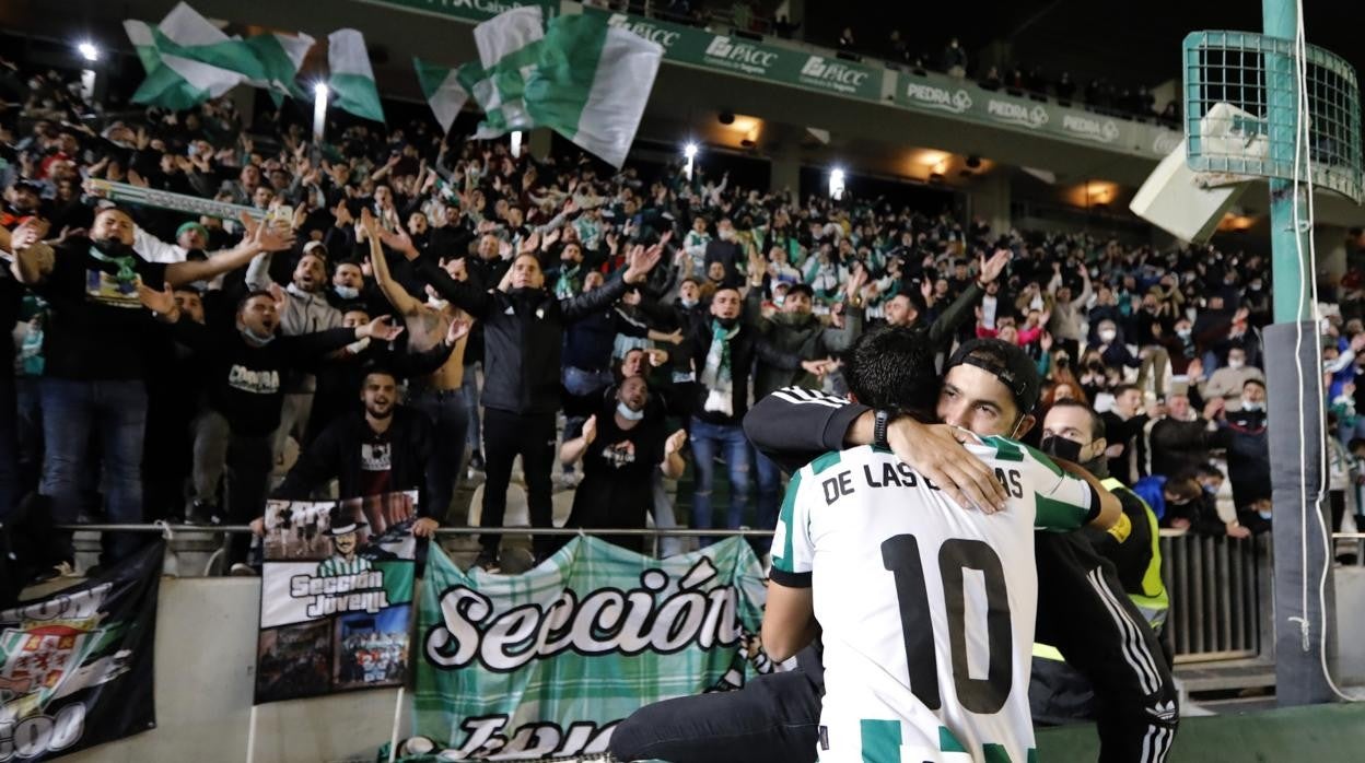
<svg viewBox="0 0 1365 763"><path fill-rule="evenodd" d="M913 535L887 538L882 542L882 564L895 575L895 598L901 607L901 636L905 639L910 691L930 710L938 710L943 699L938 685L934 618L919 542ZM966 602L962 594L962 576L966 569L979 571L986 580L986 636L990 644L986 678L972 678L968 674ZM980 715L998 712L1010 696L1014 676L1010 601L1005 590L1001 557L981 541L947 541L939 549L939 575L943 579L943 601L947 603L953 687L957 689L957 699L972 712Z"/></svg>

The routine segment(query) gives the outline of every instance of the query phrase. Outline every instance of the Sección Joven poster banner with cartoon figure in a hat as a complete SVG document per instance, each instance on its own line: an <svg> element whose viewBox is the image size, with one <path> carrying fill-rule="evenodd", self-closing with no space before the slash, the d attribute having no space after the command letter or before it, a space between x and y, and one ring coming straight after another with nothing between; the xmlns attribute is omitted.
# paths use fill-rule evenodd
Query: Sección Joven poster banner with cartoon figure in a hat
<svg viewBox="0 0 1365 763"><path fill-rule="evenodd" d="M416 500L266 505L257 704L403 685Z"/></svg>

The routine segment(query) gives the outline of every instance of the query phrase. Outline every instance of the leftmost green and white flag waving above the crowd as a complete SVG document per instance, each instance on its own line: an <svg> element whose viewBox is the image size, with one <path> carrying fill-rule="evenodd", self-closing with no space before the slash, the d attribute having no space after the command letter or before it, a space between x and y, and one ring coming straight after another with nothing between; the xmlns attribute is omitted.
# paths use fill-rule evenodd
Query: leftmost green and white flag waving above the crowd
<svg viewBox="0 0 1365 763"><path fill-rule="evenodd" d="M222 34L184 3L157 26L128 19L123 29L147 70L147 78L132 94L135 104L188 109L246 79L231 61L253 66L254 56L242 41Z"/></svg>

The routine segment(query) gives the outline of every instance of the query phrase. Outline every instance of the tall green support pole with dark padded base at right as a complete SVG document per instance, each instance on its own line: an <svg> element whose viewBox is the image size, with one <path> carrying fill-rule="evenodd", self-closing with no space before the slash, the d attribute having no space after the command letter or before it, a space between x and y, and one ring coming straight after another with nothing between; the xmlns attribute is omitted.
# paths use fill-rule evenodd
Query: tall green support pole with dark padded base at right
<svg viewBox="0 0 1365 763"><path fill-rule="evenodd" d="M1264 31L1295 40L1294 0L1261 0ZM1265 55L1267 127L1271 158L1299 162L1308 179L1306 150L1295 154L1298 120L1298 64L1290 56ZM1323 541L1314 500L1321 490L1323 399L1321 348L1316 306L1310 298L1314 273L1308 262L1312 225L1306 194L1290 180L1272 179L1271 243L1275 325L1265 333L1271 504L1275 528L1275 697L1280 707L1316 704L1332 699L1323 676L1323 620L1319 586L1327 575L1327 611L1332 613L1331 556ZM1294 207L1298 206L1298 225ZM1302 254L1301 254L1302 253ZM1302 427L1301 427L1302 422ZM1317 513L1319 516L1314 516ZM1306 586L1306 595L1305 595ZM1305 606L1306 605L1306 606Z"/></svg>

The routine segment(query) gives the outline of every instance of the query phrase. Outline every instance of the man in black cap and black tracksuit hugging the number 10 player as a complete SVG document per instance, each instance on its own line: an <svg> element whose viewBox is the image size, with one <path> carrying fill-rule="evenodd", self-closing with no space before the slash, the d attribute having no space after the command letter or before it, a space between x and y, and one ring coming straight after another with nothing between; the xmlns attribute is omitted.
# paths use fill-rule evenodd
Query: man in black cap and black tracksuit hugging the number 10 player
<svg viewBox="0 0 1365 763"><path fill-rule="evenodd" d="M979 356L981 345L991 347L983 354L986 358ZM991 374L1013 392L1013 400L971 399L966 390L951 384L951 370L960 364ZM1017 347L1003 347L998 340L968 343L949 362L947 371L940 415L945 407L971 403L981 409L995 408L1001 418L996 427L1003 427L1005 434L1018 437L1032 426L1032 416L1020 411L1033 408L1040 381L1032 360ZM854 424L871 412L865 405L838 397L788 389L755 404L744 423L755 446L792 470L820 453L867 444L854 442L850 434L865 431ZM958 423L956 415L943 418ZM1039 577L1036 639L1061 650L1095 687L1100 704L1099 760L1164 760L1178 723L1175 687L1156 637L1125 595L1114 566L1078 534L1036 534L1035 557ZM771 678L777 676L764 681L764 695L779 696L771 691ZM790 676L784 681L785 692L818 693L822 689L808 676ZM758 703L726 695L684 697L646 707L624 721L613 733L612 752L622 760L658 756L673 763L719 763L728 759L725 748L738 740L751 752L749 760L811 762L816 758L818 718L815 697Z"/></svg>

